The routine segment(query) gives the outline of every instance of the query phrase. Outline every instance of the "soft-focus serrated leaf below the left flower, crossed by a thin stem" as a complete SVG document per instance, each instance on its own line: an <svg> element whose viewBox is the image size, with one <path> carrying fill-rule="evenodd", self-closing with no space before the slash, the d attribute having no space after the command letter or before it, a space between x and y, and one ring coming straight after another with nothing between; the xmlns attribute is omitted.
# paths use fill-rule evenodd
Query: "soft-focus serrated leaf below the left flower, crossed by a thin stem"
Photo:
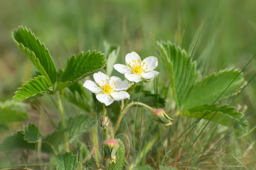
<svg viewBox="0 0 256 170"><path fill-rule="evenodd" d="M96 125L95 119L91 116L81 114L75 117L71 117L66 120L66 128L69 129L67 134L69 139L80 136L81 134L89 131ZM58 130L63 129L62 122L58 124Z"/></svg>

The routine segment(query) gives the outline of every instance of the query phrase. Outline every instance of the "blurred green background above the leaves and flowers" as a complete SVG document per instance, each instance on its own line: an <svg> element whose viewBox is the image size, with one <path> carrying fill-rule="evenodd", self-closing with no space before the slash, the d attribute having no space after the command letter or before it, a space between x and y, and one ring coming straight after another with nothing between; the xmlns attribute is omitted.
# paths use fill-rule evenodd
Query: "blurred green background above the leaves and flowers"
<svg viewBox="0 0 256 170"><path fill-rule="evenodd" d="M35 72L15 46L11 31L31 28L57 64L81 51L104 51L103 42L121 46L119 57L136 51L154 54L156 40L171 40L189 50L202 30L193 59L203 76L224 68L243 68L256 54L255 0L1 0L0 100L12 98ZM245 69L253 76L256 60ZM240 104L256 102L256 81Z"/></svg>

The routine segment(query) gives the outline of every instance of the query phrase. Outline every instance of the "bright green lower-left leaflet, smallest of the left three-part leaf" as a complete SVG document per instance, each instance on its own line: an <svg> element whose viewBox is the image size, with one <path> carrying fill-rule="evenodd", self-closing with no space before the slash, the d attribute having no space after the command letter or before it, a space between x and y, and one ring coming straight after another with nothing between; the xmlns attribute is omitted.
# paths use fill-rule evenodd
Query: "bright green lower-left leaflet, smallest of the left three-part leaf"
<svg viewBox="0 0 256 170"><path fill-rule="evenodd" d="M16 102L35 99L50 94L51 92L48 91L49 87L47 79L44 76L35 77L35 79L30 79L26 82L22 88L18 88L13 99L15 99Z"/></svg>

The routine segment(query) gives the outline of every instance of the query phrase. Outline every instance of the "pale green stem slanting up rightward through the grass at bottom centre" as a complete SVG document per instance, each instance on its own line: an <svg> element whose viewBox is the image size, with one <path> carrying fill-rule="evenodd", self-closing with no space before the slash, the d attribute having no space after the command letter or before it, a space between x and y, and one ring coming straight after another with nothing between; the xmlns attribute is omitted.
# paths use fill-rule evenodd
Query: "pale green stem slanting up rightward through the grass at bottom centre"
<svg viewBox="0 0 256 170"><path fill-rule="evenodd" d="M137 164L140 162L140 160L143 158L143 154L147 154L150 149L152 149L155 142L158 140L158 135L162 135L165 132L165 128L162 127L162 129L159 131L159 134L157 133L153 139L151 139L150 142L147 143L147 146L143 148L143 151L140 153L140 156L137 157L133 164L130 166L130 170L132 170L134 167L137 166Z"/></svg>

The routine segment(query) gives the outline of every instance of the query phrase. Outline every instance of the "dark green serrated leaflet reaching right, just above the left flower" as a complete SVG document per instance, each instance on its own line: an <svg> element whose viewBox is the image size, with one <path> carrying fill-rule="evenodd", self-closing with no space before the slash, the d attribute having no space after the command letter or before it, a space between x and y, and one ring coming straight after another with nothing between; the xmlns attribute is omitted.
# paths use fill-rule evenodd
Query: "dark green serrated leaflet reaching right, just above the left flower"
<svg viewBox="0 0 256 170"><path fill-rule="evenodd" d="M104 54L100 52L93 51L90 53L87 51L85 54L81 52L67 60L67 66L59 79L61 82L77 82L101 69L106 64L104 60Z"/></svg>

